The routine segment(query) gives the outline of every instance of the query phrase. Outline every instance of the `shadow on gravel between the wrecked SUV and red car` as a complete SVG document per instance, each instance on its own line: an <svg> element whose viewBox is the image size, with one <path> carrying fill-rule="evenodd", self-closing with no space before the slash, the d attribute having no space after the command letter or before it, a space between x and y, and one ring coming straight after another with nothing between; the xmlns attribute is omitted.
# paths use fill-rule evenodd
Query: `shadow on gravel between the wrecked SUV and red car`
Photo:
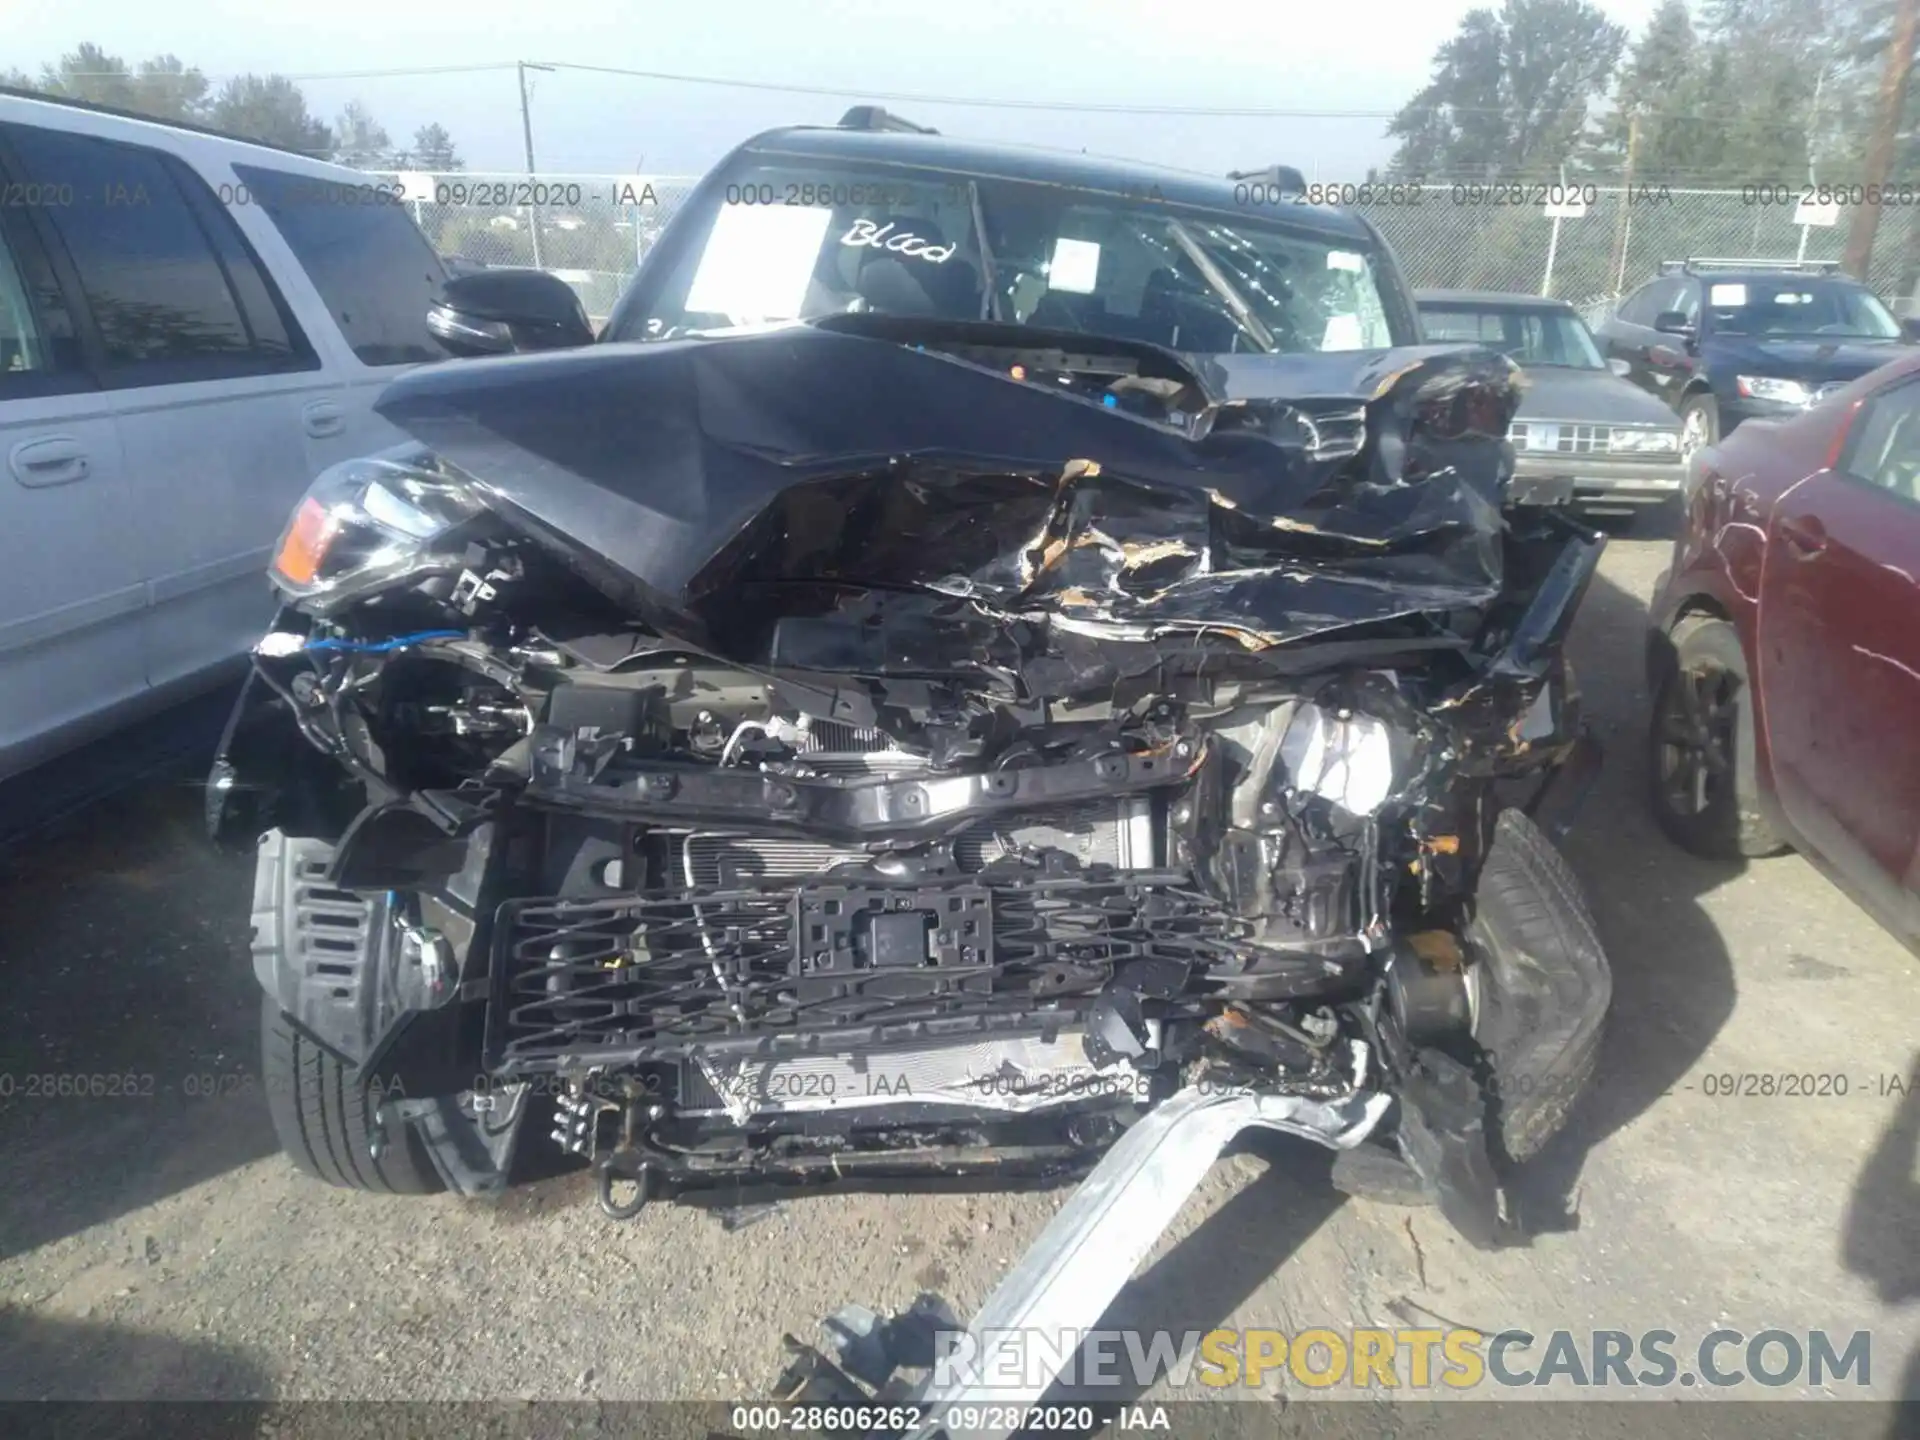
<svg viewBox="0 0 1920 1440"><path fill-rule="evenodd" d="M1692 856L1653 822L1645 628L1645 599L1596 576L1569 645L1605 764L1563 849L1613 964L1613 1010L1592 1089L1517 1179L1536 1233L1578 1229L1588 1152L1668 1094L1734 1014L1734 962L1699 899L1741 864Z"/></svg>

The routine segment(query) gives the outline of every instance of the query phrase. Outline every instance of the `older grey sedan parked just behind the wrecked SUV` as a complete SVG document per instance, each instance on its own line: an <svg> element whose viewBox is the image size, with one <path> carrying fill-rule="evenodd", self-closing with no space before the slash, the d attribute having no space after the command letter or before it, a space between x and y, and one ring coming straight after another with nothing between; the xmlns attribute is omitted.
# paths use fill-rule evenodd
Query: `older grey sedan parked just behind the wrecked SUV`
<svg viewBox="0 0 1920 1440"><path fill-rule="evenodd" d="M1565 300L1494 290L1415 294L1427 340L1490 346L1526 372L1513 419L1511 497L1632 513L1680 493L1680 424L1609 367Z"/></svg>

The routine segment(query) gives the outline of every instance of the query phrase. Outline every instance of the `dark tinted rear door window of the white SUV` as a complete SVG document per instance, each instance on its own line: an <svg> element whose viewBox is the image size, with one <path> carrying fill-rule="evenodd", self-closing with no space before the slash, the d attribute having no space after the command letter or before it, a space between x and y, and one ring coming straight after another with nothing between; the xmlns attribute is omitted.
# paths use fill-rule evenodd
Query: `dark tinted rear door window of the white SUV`
<svg viewBox="0 0 1920 1440"><path fill-rule="evenodd" d="M261 374L307 361L271 284L198 175L157 150L8 127L73 261L111 386Z"/></svg>

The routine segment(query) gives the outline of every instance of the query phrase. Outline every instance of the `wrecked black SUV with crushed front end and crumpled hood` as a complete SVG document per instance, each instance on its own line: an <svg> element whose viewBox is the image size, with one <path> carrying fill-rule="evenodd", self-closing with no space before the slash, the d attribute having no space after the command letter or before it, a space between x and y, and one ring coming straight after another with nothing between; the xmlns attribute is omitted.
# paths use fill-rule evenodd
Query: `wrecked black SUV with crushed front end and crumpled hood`
<svg viewBox="0 0 1920 1440"><path fill-rule="evenodd" d="M1530 818L1601 540L1503 509L1517 372L1363 219L866 117L599 342L530 273L434 324L551 353L388 388L207 791L301 1167L1010 1183L1212 1085L1505 1233L1609 1002Z"/></svg>

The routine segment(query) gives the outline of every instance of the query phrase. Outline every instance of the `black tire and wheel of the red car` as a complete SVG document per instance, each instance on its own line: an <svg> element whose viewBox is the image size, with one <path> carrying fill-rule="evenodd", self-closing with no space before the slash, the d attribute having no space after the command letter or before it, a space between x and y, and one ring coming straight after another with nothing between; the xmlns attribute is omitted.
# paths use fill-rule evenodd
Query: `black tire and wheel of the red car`
<svg viewBox="0 0 1920 1440"><path fill-rule="evenodd" d="M1653 695L1647 780L1653 818L1684 851L1741 860L1788 849L1761 812L1757 716L1732 624L1690 614L1668 634Z"/></svg>

